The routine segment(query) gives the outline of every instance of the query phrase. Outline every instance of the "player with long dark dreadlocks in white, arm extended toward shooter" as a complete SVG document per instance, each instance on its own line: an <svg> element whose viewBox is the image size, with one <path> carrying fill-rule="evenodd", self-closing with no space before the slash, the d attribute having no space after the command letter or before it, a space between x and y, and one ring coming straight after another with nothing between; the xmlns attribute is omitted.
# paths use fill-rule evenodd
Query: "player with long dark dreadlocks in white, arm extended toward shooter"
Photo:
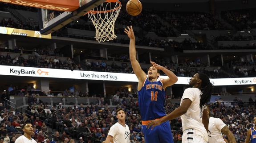
<svg viewBox="0 0 256 143"><path fill-rule="evenodd" d="M209 124L207 103L211 99L213 85L204 73L196 73L188 85L189 88L184 91L179 108L159 120L151 121L147 128L152 129L167 120L181 116L182 143L207 143Z"/></svg>

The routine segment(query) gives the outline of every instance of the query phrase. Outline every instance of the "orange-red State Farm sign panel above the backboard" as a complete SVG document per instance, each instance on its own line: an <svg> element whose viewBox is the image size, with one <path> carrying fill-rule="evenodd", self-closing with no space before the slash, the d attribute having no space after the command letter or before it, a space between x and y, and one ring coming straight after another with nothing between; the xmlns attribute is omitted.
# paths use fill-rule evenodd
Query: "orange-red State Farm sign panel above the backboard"
<svg viewBox="0 0 256 143"><path fill-rule="evenodd" d="M0 2L65 12L79 8L79 0L0 0Z"/></svg>

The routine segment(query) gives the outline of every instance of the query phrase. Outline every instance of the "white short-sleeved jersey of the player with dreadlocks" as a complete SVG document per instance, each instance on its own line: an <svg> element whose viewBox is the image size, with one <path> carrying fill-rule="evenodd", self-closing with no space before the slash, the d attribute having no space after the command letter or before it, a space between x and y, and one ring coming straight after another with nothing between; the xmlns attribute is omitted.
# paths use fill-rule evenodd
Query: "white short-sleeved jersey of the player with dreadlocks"
<svg viewBox="0 0 256 143"><path fill-rule="evenodd" d="M200 109L200 95L201 90L198 88L188 88L184 91L180 104L185 98L190 99L192 103L187 109L186 114L180 116L182 121L182 130L184 132L187 129L195 129L198 135L202 135L203 139L208 141L208 134L202 123L203 110L206 109L206 106Z"/></svg>

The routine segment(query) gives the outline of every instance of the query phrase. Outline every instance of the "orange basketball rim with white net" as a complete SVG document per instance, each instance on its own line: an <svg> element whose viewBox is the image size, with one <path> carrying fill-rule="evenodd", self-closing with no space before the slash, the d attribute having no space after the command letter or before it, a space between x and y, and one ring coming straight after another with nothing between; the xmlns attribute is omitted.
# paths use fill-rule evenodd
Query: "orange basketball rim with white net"
<svg viewBox="0 0 256 143"><path fill-rule="evenodd" d="M99 43L117 38L114 32L114 25L121 6L122 4L119 0L106 0L88 12L88 17L92 20L96 30L94 38Z"/></svg>

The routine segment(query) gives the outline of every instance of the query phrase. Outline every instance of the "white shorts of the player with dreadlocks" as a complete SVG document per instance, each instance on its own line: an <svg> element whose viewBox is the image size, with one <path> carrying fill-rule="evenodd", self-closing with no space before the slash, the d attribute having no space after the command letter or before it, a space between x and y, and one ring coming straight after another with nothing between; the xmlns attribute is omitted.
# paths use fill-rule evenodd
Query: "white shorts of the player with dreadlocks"
<svg viewBox="0 0 256 143"><path fill-rule="evenodd" d="M183 132L182 143L207 143L204 136L195 129L187 129Z"/></svg>

